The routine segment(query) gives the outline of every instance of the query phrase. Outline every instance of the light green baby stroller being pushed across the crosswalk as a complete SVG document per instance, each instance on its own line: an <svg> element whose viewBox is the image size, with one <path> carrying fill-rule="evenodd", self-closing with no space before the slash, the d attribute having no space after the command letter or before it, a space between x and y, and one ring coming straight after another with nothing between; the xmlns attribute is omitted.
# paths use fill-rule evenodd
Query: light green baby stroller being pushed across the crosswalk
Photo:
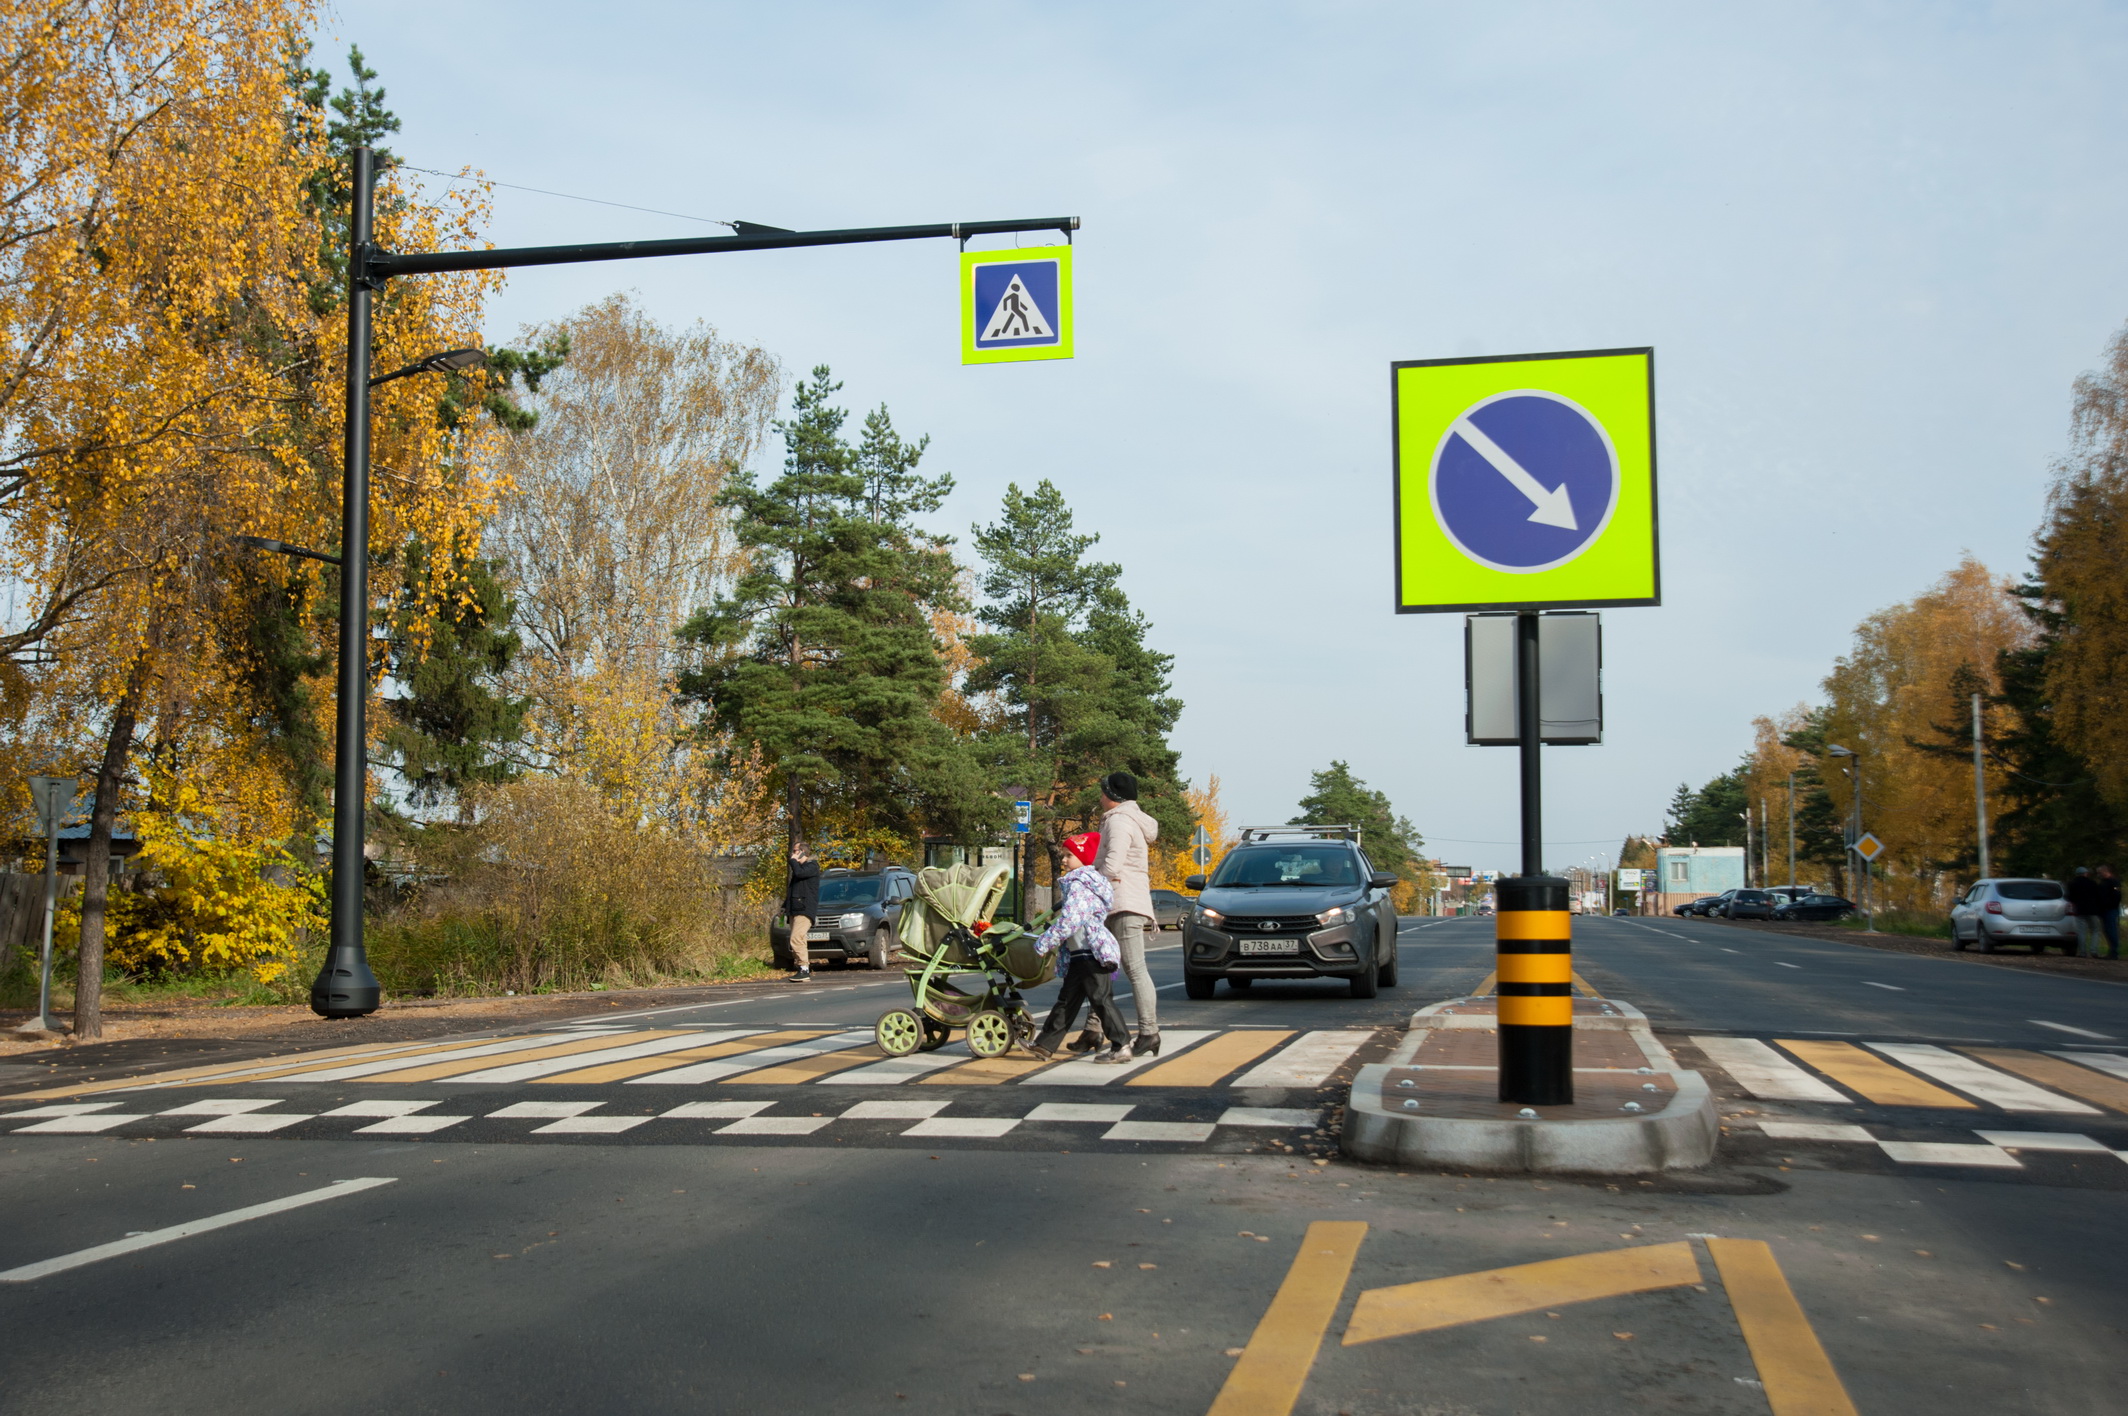
<svg viewBox="0 0 2128 1416"><path fill-rule="evenodd" d="M968 1033L975 1056L1004 1056L1034 1037L1034 1016L1021 988L1055 977L1055 956L1036 954L1034 928L992 924L1011 873L1002 865L930 867L917 871L917 892L902 905L900 952L909 975L909 1007L890 1007L872 1024L887 1056L943 1048L953 1028Z"/></svg>

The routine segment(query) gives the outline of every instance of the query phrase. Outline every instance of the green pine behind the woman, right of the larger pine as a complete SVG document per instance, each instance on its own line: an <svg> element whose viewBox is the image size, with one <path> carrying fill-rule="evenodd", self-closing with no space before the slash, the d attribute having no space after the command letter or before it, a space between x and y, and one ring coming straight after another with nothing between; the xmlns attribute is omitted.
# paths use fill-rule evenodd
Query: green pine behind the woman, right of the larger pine
<svg viewBox="0 0 2128 1416"><path fill-rule="evenodd" d="M1117 586L1121 569L1087 560L1098 534L1073 530L1064 494L1049 481L1009 485L1002 515L977 526L985 562L979 611L987 635L968 639L983 662L968 692L994 692L1004 726L983 741L992 771L1034 803L1034 839L1051 869L1062 839L1100 811L1100 777L1138 779L1138 805L1179 841L1190 807L1166 735L1181 715L1168 694L1173 656L1145 645L1145 615Z"/></svg>

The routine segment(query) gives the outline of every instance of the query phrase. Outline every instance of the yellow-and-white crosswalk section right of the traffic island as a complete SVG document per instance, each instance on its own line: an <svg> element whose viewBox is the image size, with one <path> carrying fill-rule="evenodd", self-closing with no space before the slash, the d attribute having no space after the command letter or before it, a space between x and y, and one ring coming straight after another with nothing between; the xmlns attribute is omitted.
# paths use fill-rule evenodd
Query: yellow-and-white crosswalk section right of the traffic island
<svg viewBox="0 0 2128 1416"><path fill-rule="evenodd" d="M1724 1124L1741 1135L1811 1141L1828 1146L1817 1154L1834 1160L1900 1167L2024 1171L2039 1156L2068 1156L2068 1167L2081 1171L2090 1158L2102 1163L2092 1180L2128 1182L2128 1169L2113 1165L2128 1163L2128 1056L2119 1052L1802 1037L1692 1037L1692 1045L1749 1099L1877 1109L1864 1120L1730 1112ZM2030 1120L2034 1129L1990 1126L1985 1116ZM2081 1129L2054 1129L2064 1122ZM1945 1133L1960 1139L1941 1139Z"/></svg>

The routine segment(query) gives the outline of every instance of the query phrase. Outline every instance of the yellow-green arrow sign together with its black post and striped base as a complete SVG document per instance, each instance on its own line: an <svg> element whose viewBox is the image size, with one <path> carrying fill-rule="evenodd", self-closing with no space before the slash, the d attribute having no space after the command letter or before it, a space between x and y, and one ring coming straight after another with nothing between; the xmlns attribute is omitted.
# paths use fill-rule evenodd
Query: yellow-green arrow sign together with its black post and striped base
<svg viewBox="0 0 2128 1416"><path fill-rule="evenodd" d="M1566 1105L1568 884L1545 875L1539 611L1660 605L1656 351L1390 366L1396 613L1515 611L1522 871L1494 888L1500 1101Z"/></svg>

